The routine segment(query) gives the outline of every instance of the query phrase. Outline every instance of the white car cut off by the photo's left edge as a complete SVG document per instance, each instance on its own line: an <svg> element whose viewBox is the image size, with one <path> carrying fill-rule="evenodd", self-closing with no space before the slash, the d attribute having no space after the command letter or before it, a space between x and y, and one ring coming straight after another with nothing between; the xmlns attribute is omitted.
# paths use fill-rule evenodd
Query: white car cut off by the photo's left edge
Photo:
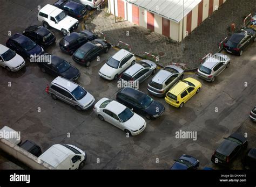
<svg viewBox="0 0 256 187"><path fill-rule="evenodd" d="M8 71L18 71L25 66L23 57L0 44L0 66Z"/></svg>

